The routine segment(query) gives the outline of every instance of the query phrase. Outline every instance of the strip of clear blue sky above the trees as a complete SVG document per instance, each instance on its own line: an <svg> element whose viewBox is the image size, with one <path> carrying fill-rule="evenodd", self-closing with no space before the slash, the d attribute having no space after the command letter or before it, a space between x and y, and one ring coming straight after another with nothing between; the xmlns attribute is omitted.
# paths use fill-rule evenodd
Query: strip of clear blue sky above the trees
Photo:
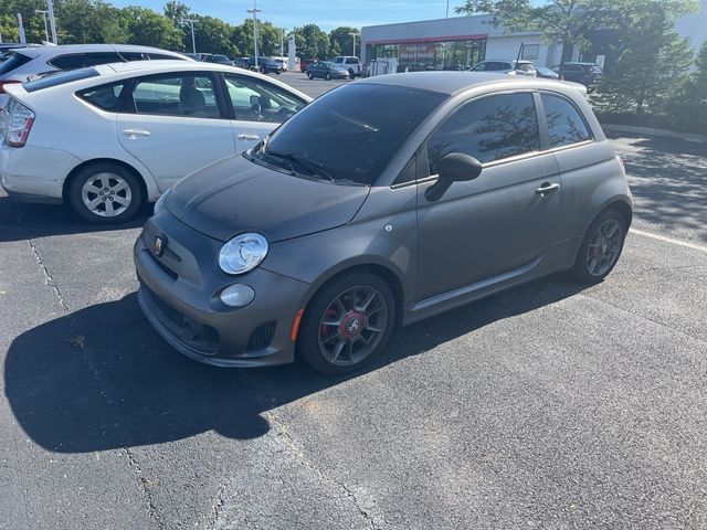
<svg viewBox="0 0 707 530"><path fill-rule="evenodd" d="M184 1L184 0L182 0ZM110 3L141 6L161 13L167 0L113 0ZM184 1L199 14L218 17L231 23L241 23L253 8L253 0L190 0ZM315 23L325 31L339 25L362 25L443 19L446 0L257 0L258 17L279 28L292 29ZM462 0L450 0L450 17Z"/></svg>

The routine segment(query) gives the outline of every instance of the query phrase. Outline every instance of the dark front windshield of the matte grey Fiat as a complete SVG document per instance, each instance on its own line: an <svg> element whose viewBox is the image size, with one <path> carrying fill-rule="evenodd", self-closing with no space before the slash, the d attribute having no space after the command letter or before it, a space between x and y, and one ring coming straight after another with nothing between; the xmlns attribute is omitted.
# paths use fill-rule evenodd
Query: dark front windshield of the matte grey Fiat
<svg viewBox="0 0 707 530"><path fill-rule="evenodd" d="M279 160L279 167L296 173L370 186L446 98L402 86L342 86L285 121L252 156L268 163Z"/></svg>

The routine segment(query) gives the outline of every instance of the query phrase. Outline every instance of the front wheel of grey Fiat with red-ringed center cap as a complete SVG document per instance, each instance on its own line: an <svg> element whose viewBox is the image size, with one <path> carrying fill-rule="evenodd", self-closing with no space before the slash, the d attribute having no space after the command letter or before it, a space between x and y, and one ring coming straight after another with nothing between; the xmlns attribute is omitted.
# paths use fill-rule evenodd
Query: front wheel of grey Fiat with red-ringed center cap
<svg viewBox="0 0 707 530"><path fill-rule="evenodd" d="M355 310L357 304L365 304L371 293L374 295L366 309ZM355 297L357 301L354 301ZM347 299L350 304L346 304ZM341 307L346 309L350 305L351 309L346 312L336 309L336 300L344 300ZM321 287L307 306L299 327L297 356L327 375L360 370L386 350L395 327L395 311L393 294L379 276L355 273L335 279ZM338 325L325 324L327 318L336 319ZM347 338L349 332L354 335ZM326 339L326 336L331 339ZM338 349L341 342L344 346ZM335 356L335 359L327 356Z"/></svg>

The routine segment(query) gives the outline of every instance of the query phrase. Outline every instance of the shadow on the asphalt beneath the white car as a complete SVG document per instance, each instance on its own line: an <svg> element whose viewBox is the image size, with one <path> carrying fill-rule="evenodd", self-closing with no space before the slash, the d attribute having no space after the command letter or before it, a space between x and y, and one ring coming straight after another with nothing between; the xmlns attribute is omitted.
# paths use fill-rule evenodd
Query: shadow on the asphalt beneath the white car
<svg viewBox="0 0 707 530"><path fill-rule="evenodd" d="M152 205L146 204L127 223L91 224L82 220L66 205L12 202L0 190L0 243L51 235L139 229L151 214Z"/></svg>

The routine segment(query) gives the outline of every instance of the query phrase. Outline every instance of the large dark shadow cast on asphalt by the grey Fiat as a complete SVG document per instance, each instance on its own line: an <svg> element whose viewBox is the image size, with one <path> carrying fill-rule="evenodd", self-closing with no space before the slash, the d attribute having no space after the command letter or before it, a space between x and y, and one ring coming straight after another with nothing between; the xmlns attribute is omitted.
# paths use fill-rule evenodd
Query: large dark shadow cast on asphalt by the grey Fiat
<svg viewBox="0 0 707 530"><path fill-rule="evenodd" d="M397 332L388 352L367 371L582 288L555 276L420 322ZM86 453L172 442L210 430L231 438L258 437L270 430L267 411L361 375L329 378L299 363L250 370L199 364L159 338L133 293L17 337L6 358L4 389L17 421L36 444L57 453Z"/></svg>

